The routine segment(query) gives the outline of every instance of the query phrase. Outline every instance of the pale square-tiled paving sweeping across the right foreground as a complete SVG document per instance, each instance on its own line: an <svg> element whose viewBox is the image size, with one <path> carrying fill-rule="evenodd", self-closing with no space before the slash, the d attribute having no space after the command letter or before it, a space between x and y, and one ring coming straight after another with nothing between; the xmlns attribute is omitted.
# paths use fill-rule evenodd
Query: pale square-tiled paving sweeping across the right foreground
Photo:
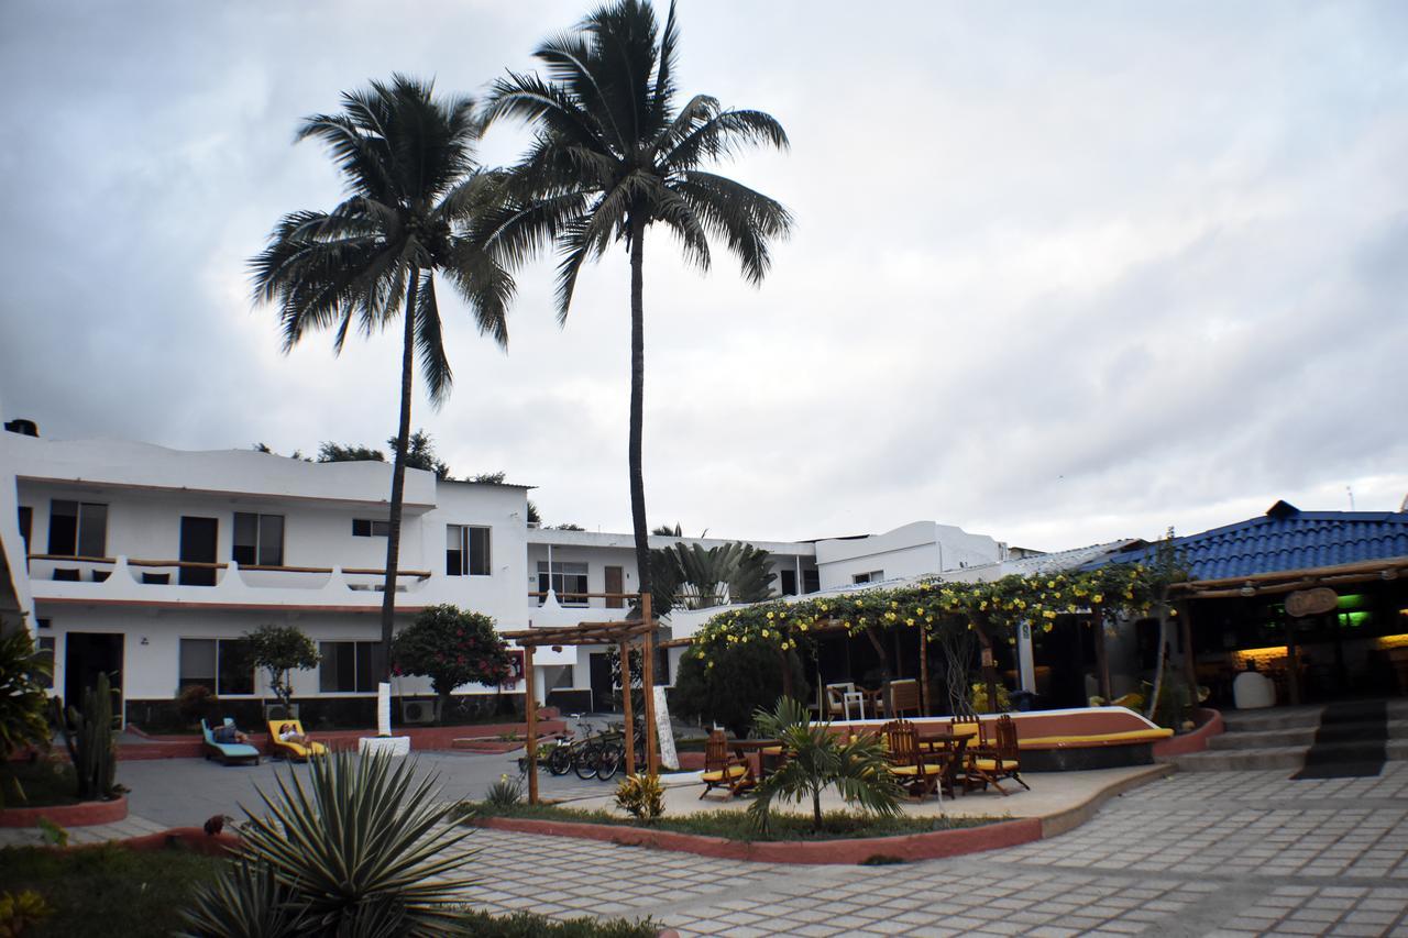
<svg viewBox="0 0 1408 938"><path fill-rule="evenodd" d="M491 910L681 935L1408 935L1408 763L1180 775L1063 837L895 866L776 866L480 831ZM1041 776L1033 776L1041 779Z"/></svg>

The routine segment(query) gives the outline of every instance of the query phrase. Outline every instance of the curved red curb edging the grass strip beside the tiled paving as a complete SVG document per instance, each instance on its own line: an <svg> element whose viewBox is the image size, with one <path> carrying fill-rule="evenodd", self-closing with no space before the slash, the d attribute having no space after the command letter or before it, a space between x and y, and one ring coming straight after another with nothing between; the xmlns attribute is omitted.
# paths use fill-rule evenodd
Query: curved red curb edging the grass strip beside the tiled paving
<svg viewBox="0 0 1408 938"><path fill-rule="evenodd" d="M528 818L489 817L472 821L477 827L520 834L549 834L607 841L627 846L698 853L715 859L755 861L762 863L846 863L856 865L876 856L918 861L977 853L1000 846L1017 846L1042 838L1039 818L1018 818L956 831L932 831L900 837L865 837L841 841L729 841L722 837L650 831L614 824L576 821L538 821Z"/></svg>

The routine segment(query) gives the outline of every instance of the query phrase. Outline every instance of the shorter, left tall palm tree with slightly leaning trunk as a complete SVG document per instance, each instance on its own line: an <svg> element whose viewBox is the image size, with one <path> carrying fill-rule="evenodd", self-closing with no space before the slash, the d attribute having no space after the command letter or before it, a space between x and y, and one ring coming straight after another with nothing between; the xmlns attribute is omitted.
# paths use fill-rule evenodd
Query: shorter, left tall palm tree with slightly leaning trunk
<svg viewBox="0 0 1408 938"><path fill-rule="evenodd" d="M508 344L508 272L466 237L496 204L500 182L474 162L480 125L474 101L441 100L432 85L396 75L390 83L342 94L342 111L304 120L296 141L322 141L346 180L332 211L294 211L251 261L255 303L272 303L289 352L306 332L332 330L339 354L355 324L372 335L401 315L401 411L391 469L390 532L382 596L377 672L390 672L396 580L401 548L406 454L411 435L415 358L431 404L449 396L435 273L444 273L473 311L482 334Z"/></svg>

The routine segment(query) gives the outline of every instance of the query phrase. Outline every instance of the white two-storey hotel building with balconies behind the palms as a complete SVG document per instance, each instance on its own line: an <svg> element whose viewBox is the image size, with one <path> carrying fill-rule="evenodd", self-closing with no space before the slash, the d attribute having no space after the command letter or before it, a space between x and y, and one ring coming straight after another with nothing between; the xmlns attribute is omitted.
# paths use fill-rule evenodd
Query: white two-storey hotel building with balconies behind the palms
<svg viewBox="0 0 1408 938"><path fill-rule="evenodd" d="M54 651L55 693L73 697L99 672L115 675L130 718L170 707L191 683L224 700L269 696L263 676L232 654L263 624L297 625L320 645L321 666L293 675L298 700L369 700L390 475L380 462L3 432L0 620L28 620ZM638 589L631 535L531 527L528 490L407 470L398 624L436 603L486 613L504 631L628 614L624 600L589 594ZM677 541L728 542L652 537L650 545ZM772 554L776 594L1007 558L988 537L931 521L874 537L752 544ZM710 614L677 614L674 635ZM601 649L543 648L535 663L545 696L576 692L567 700L586 707L587 692L610 690ZM669 680L672 669L662 672ZM396 683L400 694L428 692L421 679Z"/></svg>

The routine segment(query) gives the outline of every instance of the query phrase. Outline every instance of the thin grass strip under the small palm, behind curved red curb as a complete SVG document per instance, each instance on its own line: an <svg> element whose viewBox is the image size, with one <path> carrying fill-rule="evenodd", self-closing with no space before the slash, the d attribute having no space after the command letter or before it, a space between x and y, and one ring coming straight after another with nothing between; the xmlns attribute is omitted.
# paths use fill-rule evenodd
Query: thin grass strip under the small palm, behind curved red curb
<svg viewBox="0 0 1408 938"><path fill-rule="evenodd" d="M905 834L929 834L932 831L953 831L967 827L983 827L1008 817L870 817L850 811L828 811L821 818L821 831L811 830L811 818L800 814L779 814L772 817L772 830L759 835L749 824L746 811L700 811L677 817L662 817L652 824L621 817L605 810L583 811L582 808L555 804L515 804L508 808L491 804L466 801L460 806L460 817L514 817L538 821L573 821L577 824L615 824L639 827L652 831L676 831L703 837L722 837L729 841L838 841L862 837L903 837Z"/></svg>

